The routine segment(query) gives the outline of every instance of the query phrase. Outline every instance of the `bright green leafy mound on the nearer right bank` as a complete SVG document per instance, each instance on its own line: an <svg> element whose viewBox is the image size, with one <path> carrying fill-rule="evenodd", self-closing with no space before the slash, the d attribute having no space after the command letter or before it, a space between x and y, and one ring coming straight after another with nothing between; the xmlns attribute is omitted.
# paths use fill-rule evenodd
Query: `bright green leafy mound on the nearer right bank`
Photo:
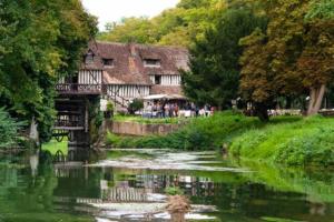
<svg viewBox="0 0 334 222"><path fill-rule="evenodd" d="M289 165L334 165L334 119L303 121L254 129L236 138L234 155Z"/></svg>

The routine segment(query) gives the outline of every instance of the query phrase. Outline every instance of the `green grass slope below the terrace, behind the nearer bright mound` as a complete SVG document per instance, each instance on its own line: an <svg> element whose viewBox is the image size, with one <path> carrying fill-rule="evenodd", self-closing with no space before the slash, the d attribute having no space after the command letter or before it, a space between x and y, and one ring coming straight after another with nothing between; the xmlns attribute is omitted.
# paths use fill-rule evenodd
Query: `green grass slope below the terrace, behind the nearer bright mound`
<svg viewBox="0 0 334 222"><path fill-rule="evenodd" d="M276 118L273 123L297 121L301 118ZM106 137L106 143L117 148L169 148L183 150L209 150L222 148L224 143L240 133L264 127L257 118L246 118L239 113L222 112L210 118L189 119L180 130L168 135L144 138L120 138L112 133Z"/></svg>

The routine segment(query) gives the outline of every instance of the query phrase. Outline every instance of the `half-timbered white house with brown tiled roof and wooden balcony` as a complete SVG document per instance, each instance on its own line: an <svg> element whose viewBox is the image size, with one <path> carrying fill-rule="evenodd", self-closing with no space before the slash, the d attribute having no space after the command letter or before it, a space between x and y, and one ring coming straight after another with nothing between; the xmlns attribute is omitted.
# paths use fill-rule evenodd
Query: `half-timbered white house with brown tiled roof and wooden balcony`
<svg viewBox="0 0 334 222"><path fill-rule="evenodd" d="M188 70L186 49L91 41L78 77L62 79L58 91L77 84L71 90L105 91L116 103L149 94L181 95L179 70Z"/></svg>

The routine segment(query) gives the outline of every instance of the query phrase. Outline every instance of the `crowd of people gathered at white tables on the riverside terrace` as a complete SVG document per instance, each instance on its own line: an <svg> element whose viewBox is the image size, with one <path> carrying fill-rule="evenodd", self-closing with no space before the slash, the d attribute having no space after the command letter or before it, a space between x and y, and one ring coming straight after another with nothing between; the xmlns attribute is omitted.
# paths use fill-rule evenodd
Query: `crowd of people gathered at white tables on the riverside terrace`
<svg viewBox="0 0 334 222"><path fill-rule="evenodd" d="M195 103L184 103L181 107L177 102L148 102L144 109L145 118L178 118L178 117L208 117L214 112L214 107L197 107Z"/></svg>

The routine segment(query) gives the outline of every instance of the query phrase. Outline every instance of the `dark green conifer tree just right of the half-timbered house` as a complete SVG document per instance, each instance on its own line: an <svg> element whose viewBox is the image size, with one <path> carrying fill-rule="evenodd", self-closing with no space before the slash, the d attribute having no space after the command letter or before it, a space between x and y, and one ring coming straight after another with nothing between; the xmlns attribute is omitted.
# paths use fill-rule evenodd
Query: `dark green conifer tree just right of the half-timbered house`
<svg viewBox="0 0 334 222"><path fill-rule="evenodd" d="M240 38L257 27L265 29L266 19L247 9L228 9L203 40L190 50L190 71L184 72L183 87L187 97L198 104L229 107L238 97Z"/></svg>

